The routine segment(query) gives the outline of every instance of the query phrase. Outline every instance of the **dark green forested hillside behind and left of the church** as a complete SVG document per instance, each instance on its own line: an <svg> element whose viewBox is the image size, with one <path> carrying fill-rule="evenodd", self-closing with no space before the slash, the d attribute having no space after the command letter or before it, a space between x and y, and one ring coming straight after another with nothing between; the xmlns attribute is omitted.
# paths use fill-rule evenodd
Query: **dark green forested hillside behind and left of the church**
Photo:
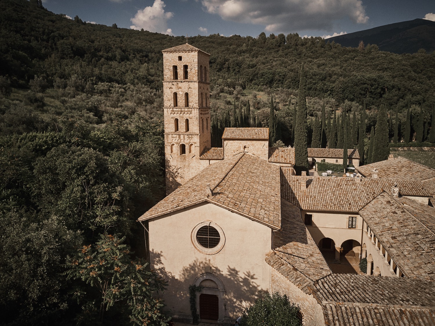
<svg viewBox="0 0 435 326"><path fill-rule="evenodd" d="M1 324L167 320L135 220L164 196L161 50L185 41L0 0ZM343 147L346 132L372 158L379 114L391 141L435 142L433 53L297 34L188 41L211 54L214 145L224 127L255 125L292 145L302 64L308 145ZM146 293L128 290L137 273Z"/></svg>

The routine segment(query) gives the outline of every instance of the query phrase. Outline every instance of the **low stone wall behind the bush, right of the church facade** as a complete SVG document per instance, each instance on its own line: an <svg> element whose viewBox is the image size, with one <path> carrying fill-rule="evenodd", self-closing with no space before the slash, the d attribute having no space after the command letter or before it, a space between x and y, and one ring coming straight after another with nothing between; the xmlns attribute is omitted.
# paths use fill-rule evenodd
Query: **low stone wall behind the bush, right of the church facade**
<svg viewBox="0 0 435 326"><path fill-rule="evenodd" d="M271 292L285 294L291 302L300 306L304 326L325 326L325 317L317 300L301 291L276 269L271 271Z"/></svg>

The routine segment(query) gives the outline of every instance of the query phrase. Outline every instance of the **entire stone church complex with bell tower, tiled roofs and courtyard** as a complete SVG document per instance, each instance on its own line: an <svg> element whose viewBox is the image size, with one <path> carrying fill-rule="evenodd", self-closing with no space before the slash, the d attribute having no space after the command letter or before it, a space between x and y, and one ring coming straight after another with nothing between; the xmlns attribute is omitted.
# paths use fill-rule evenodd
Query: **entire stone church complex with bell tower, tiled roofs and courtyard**
<svg viewBox="0 0 435 326"><path fill-rule="evenodd" d="M225 128L211 148L209 57L163 50L167 197L138 219L174 320L234 324L278 291L302 325L435 325L433 192L418 178L296 176L294 148L269 148L268 128ZM340 156L322 150L311 157ZM345 252L367 272L333 272L325 257Z"/></svg>

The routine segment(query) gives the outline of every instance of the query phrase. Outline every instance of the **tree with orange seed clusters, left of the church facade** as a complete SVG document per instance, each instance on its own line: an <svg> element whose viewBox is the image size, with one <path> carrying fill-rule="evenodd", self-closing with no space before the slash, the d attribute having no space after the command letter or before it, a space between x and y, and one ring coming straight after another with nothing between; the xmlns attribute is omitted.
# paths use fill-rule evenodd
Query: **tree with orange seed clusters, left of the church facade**
<svg viewBox="0 0 435 326"><path fill-rule="evenodd" d="M82 318L104 323L105 313L127 310L136 325L166 325L164 306L156 294L164 291L166 282L147 268L142 259L132 260L125 237L101 234L96 245L84 245L73 256L67 256L67 279L81 280L83 289L75 296L82 303Z"/></svg>

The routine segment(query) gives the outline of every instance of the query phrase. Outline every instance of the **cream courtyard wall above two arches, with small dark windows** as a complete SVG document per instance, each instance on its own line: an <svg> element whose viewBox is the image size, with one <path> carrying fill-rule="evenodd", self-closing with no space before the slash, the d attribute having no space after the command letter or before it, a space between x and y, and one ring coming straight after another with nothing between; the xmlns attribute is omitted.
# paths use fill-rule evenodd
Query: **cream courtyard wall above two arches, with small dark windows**
<svg viewBox="0 0 435 326"><path fill-rule="evenodd" d="M315 212L315 211L302 211L302 218L305 214L311 214L312 225L307 225L311 236L314 241L319 244L320 240L323 238L331 238L335 242L336 247L341 247L343 242L346 240L355 240L361 243L361 229L362 229L362 218L355 213L331 213L331 212ZM355 216L356 228L349 229L349 216ZM360 247L355 247L354 252L359 254Z"/></svg>

